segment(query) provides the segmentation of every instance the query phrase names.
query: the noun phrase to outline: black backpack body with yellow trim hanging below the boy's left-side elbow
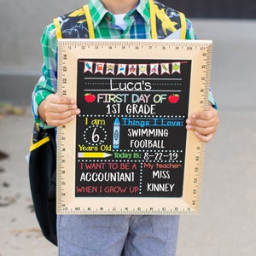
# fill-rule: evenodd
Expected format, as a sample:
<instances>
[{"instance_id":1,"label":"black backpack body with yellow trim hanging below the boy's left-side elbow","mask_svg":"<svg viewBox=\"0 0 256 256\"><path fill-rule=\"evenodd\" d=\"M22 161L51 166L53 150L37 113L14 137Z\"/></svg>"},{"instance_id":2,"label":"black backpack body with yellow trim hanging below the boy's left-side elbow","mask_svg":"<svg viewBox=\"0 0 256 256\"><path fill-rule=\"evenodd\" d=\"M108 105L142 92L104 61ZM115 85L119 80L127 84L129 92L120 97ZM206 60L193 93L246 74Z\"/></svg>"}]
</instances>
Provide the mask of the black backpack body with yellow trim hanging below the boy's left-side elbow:
<instances>
[{"instance_id":1,"label":"black backpack body with yellow trim hanging below the boy's left-side elbow","mask_svg":"<svg viewBox=\"0 0 256 256\"><path fill-rule=\"evenodd\" d=\"M57 246L55 128L34 125L28 169L38 224L44 237Z\"/></svg>"}]
</instances>

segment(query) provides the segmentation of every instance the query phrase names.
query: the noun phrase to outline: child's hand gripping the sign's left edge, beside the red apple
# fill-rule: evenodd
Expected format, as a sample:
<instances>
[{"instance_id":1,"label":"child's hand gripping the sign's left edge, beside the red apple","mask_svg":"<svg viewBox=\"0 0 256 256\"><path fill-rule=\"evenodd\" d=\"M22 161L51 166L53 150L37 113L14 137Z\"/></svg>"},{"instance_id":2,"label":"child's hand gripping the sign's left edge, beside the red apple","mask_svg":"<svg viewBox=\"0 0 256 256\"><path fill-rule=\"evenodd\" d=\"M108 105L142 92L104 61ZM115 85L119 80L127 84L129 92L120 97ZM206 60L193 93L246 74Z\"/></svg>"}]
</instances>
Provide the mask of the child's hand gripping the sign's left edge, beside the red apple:
<instances>
[{"instance_id":1,"label":"child's hand gripping the sign's left edge, beside the red apple","mask_svg":"<svg viewBox=\"0 0 256 256\"><path fill-rule=\"evenodd\" d=\"M80 109L73 98L51 94L41 102L38 113L48 125L60 126L73 120Z\"/></svg>"}]
</instances>

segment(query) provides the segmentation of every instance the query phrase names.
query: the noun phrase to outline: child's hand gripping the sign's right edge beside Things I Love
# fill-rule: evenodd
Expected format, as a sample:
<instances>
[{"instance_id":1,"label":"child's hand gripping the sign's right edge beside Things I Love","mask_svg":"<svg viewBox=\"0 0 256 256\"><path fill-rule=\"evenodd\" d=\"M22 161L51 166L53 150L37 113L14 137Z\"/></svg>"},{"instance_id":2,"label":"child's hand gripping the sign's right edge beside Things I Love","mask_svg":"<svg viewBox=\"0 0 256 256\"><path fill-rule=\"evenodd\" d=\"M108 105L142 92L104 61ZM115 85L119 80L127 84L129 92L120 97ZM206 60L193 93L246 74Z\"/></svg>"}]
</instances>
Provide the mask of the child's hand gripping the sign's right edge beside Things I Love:
<instances>
[{"instance_id":1,"label":"child's hand gripping the sign's right edge beside Things I Love","mask_svg":"<svg viewBox=\"0 0 256 256\"><path fill-rule=\"evenodd\" d=\"M218 111L211 106L207 111L192 113L186 120L186 128L195 131L196 137L208 143L217 131L218 121Z\"/></svg>"}]
</instances>

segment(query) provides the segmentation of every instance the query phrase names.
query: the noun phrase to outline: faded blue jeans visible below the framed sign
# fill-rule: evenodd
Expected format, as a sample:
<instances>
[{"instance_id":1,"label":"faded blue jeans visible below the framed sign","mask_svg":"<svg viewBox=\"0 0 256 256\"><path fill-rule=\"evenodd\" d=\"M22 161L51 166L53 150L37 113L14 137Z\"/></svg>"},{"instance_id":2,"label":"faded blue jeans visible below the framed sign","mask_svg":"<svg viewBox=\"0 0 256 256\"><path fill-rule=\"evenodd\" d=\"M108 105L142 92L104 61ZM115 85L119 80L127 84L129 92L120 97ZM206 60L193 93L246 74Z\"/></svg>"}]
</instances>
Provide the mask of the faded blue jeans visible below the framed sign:
<instances>
[{"instance_id":1,"label":"faded blue jeans visible below the framed sign","mask_svg":"<svg viewBox=\"0 0 256 256\"><path fill-rule=\"evenodd\" d=\"M59 256L174 256L179 216L60 215Z\"/></svg>"}]
</instances>

